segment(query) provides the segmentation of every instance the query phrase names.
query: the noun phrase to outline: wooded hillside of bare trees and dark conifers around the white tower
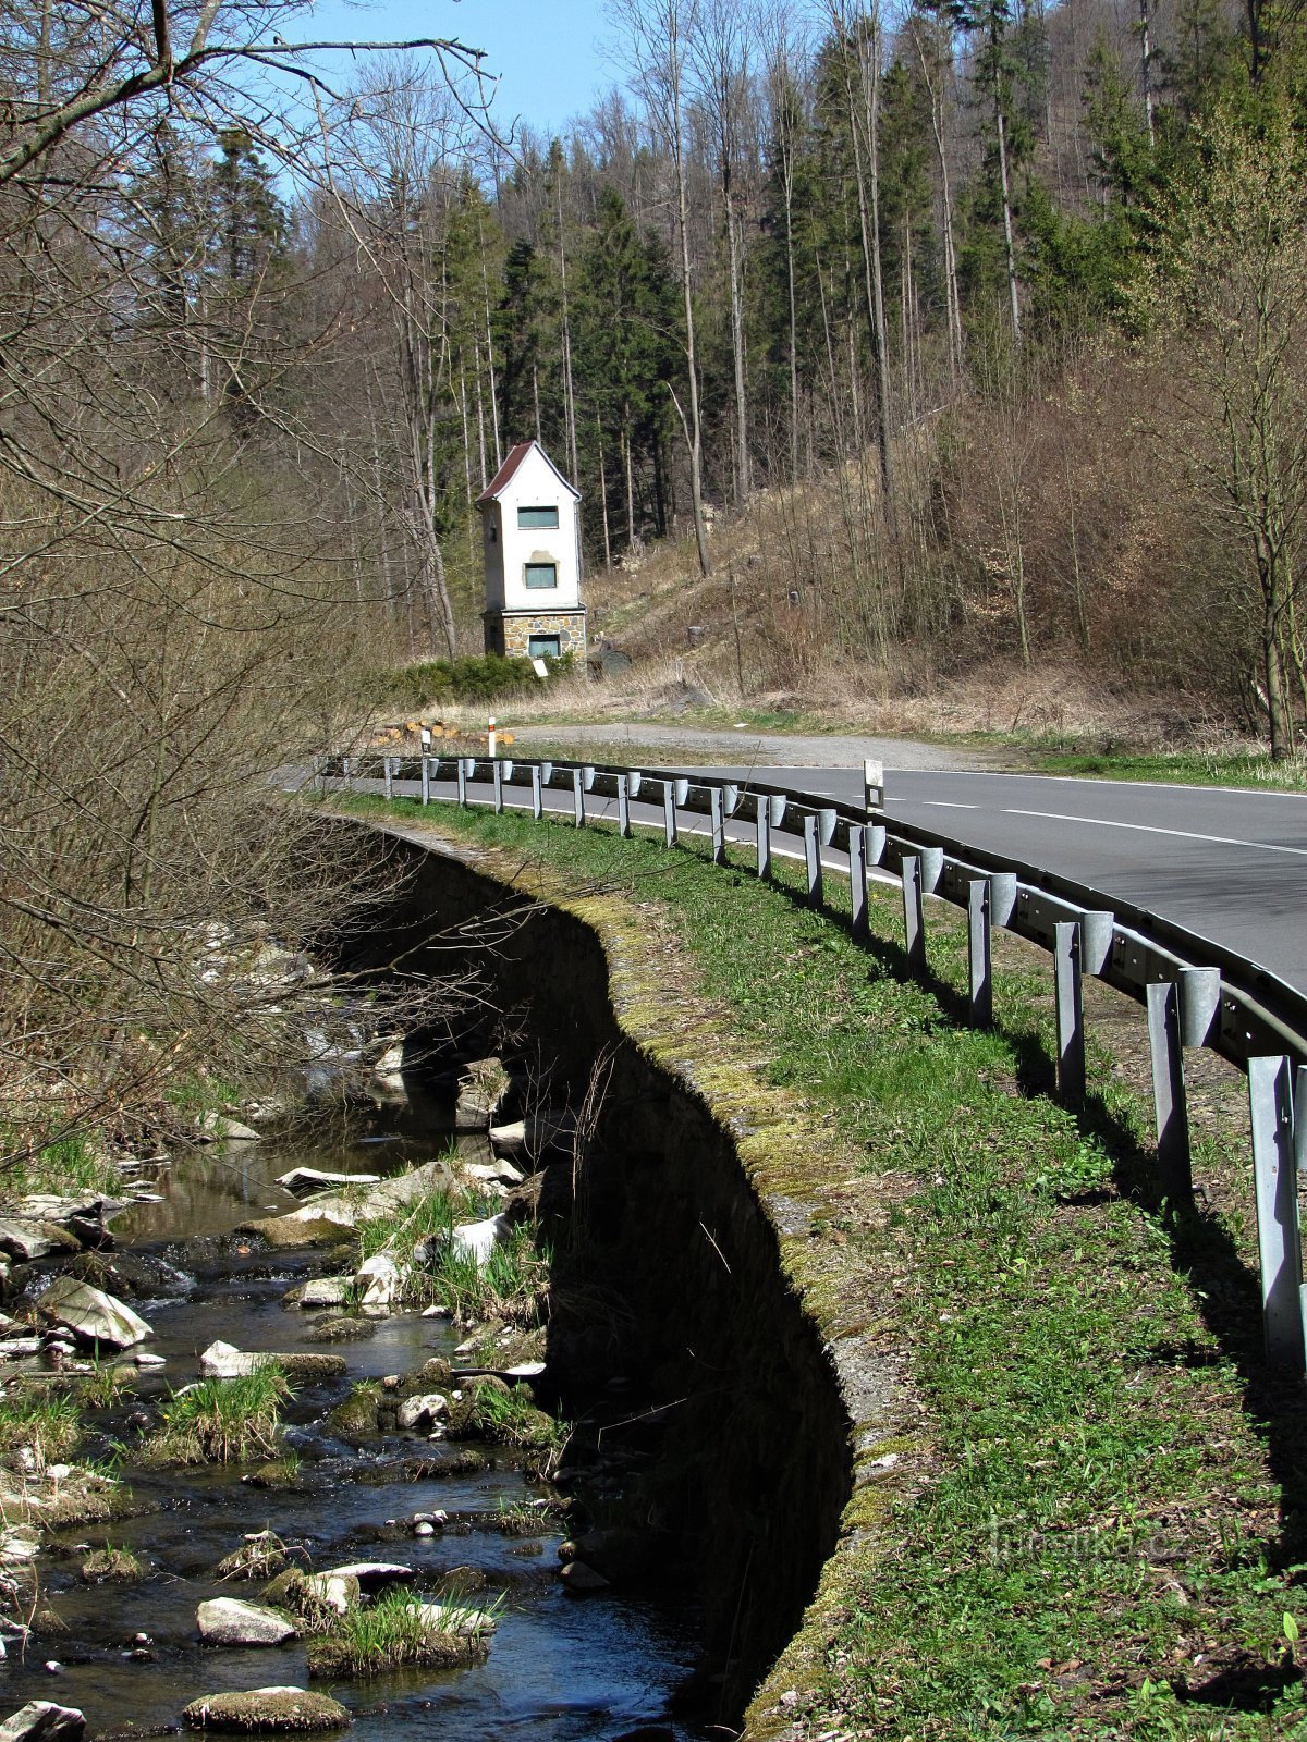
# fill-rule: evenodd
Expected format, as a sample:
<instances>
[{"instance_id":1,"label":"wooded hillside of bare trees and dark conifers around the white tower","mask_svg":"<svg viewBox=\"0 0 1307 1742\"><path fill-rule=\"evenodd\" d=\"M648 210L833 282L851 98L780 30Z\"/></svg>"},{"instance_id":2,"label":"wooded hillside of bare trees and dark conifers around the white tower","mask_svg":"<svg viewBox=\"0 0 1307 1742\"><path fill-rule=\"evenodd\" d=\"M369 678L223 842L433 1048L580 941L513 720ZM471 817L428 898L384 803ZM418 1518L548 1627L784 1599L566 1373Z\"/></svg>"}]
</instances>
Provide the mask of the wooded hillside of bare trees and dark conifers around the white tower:
<instances>
[{"instance_id":1,"label":"wooded hillside of bare trees and dark conifers around the white tower","mask_svg":"<svg viewBox=\"0 0 1307 1742\"><path fill-rule=\"evenodd\" d=\"M453 40L0 0L9 1064L91 1042L103 1110L157 1031L240 1052L195 927L312 923L267 770L356 678L479 646L472 503L528 436L591 601L671 540L694 615L633 632L706 624L741 688L1061 662L1293 751L1302 5L608 30L610 96L542 139Z\"/></svg>"}]
</instances>

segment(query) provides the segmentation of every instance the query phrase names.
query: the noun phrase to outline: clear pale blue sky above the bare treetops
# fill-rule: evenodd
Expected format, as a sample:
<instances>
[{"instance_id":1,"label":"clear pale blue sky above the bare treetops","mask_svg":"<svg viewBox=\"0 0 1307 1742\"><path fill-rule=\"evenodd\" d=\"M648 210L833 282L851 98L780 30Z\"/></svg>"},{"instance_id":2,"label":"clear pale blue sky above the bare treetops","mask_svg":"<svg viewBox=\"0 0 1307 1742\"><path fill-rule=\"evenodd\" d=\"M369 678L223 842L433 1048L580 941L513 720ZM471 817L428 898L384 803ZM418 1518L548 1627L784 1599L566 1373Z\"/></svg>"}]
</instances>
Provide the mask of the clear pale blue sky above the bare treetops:
<instances>
[{"instance_id":1,"label":"clear pale blue sky above the bare treetops","mask_svg":"<svg viewBox=\"0 0 1307 1742\"><path fill-rule=\"evenodd\" d=\"M601 49L613 31L594 0L317 0L312 31L359 40L457 37L484 49L484 66L500 75L502 127L521 117L538 132L558 132L619 82Z\"/></svg>"}]
</instances>

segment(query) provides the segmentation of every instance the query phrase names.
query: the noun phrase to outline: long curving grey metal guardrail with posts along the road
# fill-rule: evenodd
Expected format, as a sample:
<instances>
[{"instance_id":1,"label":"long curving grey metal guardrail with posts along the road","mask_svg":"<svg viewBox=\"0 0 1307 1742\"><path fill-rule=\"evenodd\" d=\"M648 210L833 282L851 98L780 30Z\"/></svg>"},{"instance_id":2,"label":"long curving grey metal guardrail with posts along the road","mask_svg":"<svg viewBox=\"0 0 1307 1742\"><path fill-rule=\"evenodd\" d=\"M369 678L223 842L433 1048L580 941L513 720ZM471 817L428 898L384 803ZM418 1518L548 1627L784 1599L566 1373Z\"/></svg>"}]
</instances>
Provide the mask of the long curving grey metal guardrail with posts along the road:
<instances>
[{"instance_id":1,"label":"long curving grey metal guardrail with posts along the road","mask_svg":"<svg viewBox=\"0 0 1307 1742\"><path fill-rule=\"evenodd\" d=\"M864 765L861 807L760 780L521 758L345 756L321 758L315 772L343 786L380 780L387 798L399 782L411 782L423 805L436 800L437 786L451 784L460 805L502 812L530 803L537 820L561 810L577 827L596 819L596 801L605 801L605 817L615 801L622 834L636 824L655 827L667 847L678 843L681 817L706 817L713 861L725 864L728 845L753 845L762 878L770 876L775 836L784 833L802 843L807 895L816 908L823 906L823 854L845 855L856 939L868 935L870 878L878 871L901 883L904 949L917 974L927 970L924 897L938 895L967 915L967 991L978 1026L993 1019L993 928L1016 932L1051 953L1058 1094L1070 1106L1079 1106L1086 1092L1084 976L1134 998L1148 1019L1157 1160L1162 1193L1173 1204L1190 1202L1194 1193L1185 1047L1208 1047L1248 1077L1267 1361L1307 1371L1298 1225L1298 1174L1307 1169L1307 998L1274 974L1070 878L892 822L875 763ZM477 782L483 791L474 791ZM554 793L568 794L570 805L547 803ZM647 810L633 817L633 807L650 805L652 815Z\"/></svg>"}]
</instances>

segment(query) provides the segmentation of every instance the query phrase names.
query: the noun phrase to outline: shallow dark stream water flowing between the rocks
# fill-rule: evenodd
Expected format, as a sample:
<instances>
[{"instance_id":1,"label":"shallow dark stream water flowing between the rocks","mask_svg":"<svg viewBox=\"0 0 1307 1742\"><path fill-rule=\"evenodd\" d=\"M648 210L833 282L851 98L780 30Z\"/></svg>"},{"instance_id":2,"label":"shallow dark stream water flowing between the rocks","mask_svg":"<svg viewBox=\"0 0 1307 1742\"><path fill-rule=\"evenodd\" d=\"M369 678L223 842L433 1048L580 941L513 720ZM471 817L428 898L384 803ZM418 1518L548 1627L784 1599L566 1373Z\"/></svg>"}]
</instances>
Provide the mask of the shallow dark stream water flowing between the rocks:
<instances>
[{"instance_id":1,"label":"shallow dark stream water flowing between the rocks","mask_svg":"<svg viewBox=\"0 0 1307 1742\"><path fill-rule=\"evenodd\" d=\"M232 1233L251 1216L295 1207L275 1185L289 1167L394 1172L446 1150L450 1124L446 1104L410 1104L362 1115L308 1144L213 1146L160 1176L152 1186L159 1202L119 1218L119 1246L164 1261L157 1293L131 1305L153 1326L146 1347L166 1366L143 1369L103 1421L129 1448L120 1475L134 1510L106 1526L56 1533L40 1557L42 1594L66 1631L38 1625L24 1660L10 1651L0 1665L0 1711L52 1698L78 1705L91 1735L167 1733L181 1707L202 1693L308 1686L298 1641L251 1650L199 1643L199 1603L218 1596L260 1601L261 1582L218 1582L214 1568L246 1533L272 1529L295 1547L293 1563L308 1561L314 1571L397 1561L413 1570L418 1587L432 1587L455 1568L474 1568L486 1580L476 1601L502 1594L490 1658L479 1667L314 1681L354 1712L352 1735L369 1742L399 1735L565 1742L617 1739L643 1725L660 1726L652 1735L690 1733L666 1716L695 1657L688 1603L673 1608L612 1589L566 1594L558 1580L561 1529L545 1519L538 1535L502 1528L507 1509L521 1521L523 1509L538 1509L547 1491L528 1486L495 1448L477 1448L490 1460L481 1474L413 1481L416 1458L448 1458L467 1442L450 1448L415 1432L356 1449L331 1437L324 1416L354 1381L451 1357L460 1333L448 1320L404 1313L380 1320L364 1340L322 1343L314 1336L319 1315L281 1305L288 1289L321 1270L321 1254L265 1252ZM216 1338L244 1350L321 1348L347 1359L347 1378L300 1381L288 1409L288 1444L300 1458L296 1488L249 1486L240 1467L150 1470L132 1463L143 1416L153 1418L152 1399L197 1378L199 1354ZM444 1524L415 1535L415 1514L430 1512L446 1514ZM82 1583L85 1552L105 1545L131 1549L145 1578ZM138 1636L148 1644L138 1644ZM51 1671L47 1662L59 1667Z\"/></svg>"}]
</instances>

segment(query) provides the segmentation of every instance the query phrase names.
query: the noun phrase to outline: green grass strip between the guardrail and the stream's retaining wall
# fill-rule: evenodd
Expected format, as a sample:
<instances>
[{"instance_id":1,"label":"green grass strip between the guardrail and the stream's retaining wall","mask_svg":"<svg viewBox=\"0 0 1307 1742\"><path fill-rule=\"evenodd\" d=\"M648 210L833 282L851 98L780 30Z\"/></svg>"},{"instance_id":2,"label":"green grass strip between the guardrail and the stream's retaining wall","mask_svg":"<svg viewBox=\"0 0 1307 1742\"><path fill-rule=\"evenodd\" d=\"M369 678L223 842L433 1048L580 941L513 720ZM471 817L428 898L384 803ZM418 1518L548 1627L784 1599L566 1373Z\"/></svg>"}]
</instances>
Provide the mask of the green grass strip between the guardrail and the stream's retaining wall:
<instances>
[{"instance_id":1,"label":"green grass strip between the guardrail and the stream's retaining wall","mask_svg":"<svg viewBox=\"0 0 1307 1742\"><path fill-rule=\"evenodd\" d=\"M660 901L739 1050L889 1207L831 1212L809 1242L852 1247L924 1406L903 1448L875 1448L922 1460L911 1491L854 1500L877 1547L830 1573L824 1665L791 1683L810 1733L1307 1737L1288 1637L1307 1624L1307 1420L1302 1387L1260 1367L1251 1204L1225 1221L1150 1198L1147 1122L1101 1052L1080 1120L1039 1092L1047 970L1000 972L997 1030L974 1033L946 1014L964 927L932 906L938 989L903 979L896 890L863 951L697 845L436 815L573 887Z\"/></svg>"}]
</instances>

